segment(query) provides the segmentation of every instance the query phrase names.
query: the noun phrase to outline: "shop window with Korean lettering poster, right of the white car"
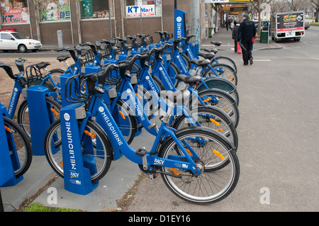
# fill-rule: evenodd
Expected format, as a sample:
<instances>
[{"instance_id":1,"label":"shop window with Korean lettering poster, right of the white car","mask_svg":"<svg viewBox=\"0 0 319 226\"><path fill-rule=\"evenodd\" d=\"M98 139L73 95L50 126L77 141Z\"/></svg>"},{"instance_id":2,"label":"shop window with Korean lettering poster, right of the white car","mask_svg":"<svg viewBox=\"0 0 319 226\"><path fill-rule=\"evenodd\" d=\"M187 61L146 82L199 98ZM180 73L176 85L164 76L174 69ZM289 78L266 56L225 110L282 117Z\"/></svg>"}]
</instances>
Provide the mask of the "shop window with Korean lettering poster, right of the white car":
<instances>
[{"instance_id":1,"label":"shop window with Korean lettering poster, right of the white car","mask_svg":"<svg viewBox=\"0 0 319 226\"><path fill-rule=\"evenodd\" d=\"M38 1L40 21L69 21L69 0L44 0Z\"/></svg>"}]
</instances>

